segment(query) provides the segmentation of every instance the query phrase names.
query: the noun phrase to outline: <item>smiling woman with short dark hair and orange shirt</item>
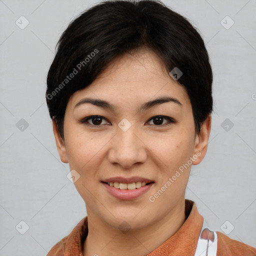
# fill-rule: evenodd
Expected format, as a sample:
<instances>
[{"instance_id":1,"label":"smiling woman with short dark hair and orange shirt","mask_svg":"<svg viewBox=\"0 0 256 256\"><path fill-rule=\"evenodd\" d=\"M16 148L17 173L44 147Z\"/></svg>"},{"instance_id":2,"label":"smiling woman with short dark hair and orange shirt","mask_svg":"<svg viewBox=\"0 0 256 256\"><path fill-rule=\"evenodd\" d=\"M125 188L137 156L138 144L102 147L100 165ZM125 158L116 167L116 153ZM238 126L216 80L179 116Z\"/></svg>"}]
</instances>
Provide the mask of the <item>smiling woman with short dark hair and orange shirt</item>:
<instances>
[{"instance_id":1,"label":"smiling woman with short dark hair and orange shirt","mask_svg":"<svg viewBox=\"0 0 256 256\"><path fill-rule=\"evenodd\" d=\"M201 36L161 2L105 1L69 24L46 101L87 216L47 255L256 255L184 198L207 150L211 84Z\"/></svg>"}]
</instances>

